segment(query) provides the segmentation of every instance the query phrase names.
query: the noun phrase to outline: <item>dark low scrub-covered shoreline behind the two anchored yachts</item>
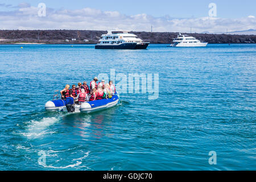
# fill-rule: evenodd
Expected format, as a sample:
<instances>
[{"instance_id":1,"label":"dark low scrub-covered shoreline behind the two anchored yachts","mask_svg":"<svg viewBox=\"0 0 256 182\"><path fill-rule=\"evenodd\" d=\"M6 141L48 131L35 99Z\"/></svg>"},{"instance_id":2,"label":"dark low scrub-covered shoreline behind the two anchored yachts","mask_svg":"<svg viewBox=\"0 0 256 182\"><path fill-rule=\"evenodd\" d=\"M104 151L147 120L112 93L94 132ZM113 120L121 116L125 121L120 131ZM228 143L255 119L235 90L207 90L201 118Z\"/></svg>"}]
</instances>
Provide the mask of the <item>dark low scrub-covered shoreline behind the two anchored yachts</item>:
<instances>
[{"instance_id":1,"label":"dark low scrub-covered shoreline behind the two anchored yachts","mask_svg":"<svg viewBox=\"0 0 256 182\"><path fill-rule=\"evenodd\" d=\"M170 44L178 32L132 32L151 44ZM106 31L96 30L0 30L0 44L96 44ZM208 43L256 43L256 35L189 34ZM73 39L73 40L72 40Z\"/></svg>"}]
</instances>

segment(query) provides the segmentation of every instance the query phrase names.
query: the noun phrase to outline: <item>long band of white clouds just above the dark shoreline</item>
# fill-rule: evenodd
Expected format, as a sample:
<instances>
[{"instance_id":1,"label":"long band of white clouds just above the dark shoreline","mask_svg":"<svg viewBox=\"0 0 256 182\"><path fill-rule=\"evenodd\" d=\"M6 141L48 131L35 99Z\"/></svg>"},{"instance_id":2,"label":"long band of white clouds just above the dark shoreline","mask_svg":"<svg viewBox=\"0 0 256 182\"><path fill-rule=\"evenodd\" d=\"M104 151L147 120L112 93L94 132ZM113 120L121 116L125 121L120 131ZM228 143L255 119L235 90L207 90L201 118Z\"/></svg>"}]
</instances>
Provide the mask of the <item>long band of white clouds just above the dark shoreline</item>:
<instances>
[{"instance_id":1,"label":"long band of white clouds just above the dark shoreline","mask_svg":"<svg viewBox=\"0 0 256 182\"><path fill-rule=\"evenodd\" d=\"M1 5L1 4L0 4ZM2 5L6 6L6 5ZM225 32L256 29L256 19L253 15L246 18L170 18L154 17L148 14L125 15L118 11L102 11L89 7L77 10L53 10L47 8L46 16L38 16L38 7L22 3L13 11L0 11L1 29L76 29L76 30L109 30L115 27L133 31L172 32Z\"/></svg>"}]
</instances>

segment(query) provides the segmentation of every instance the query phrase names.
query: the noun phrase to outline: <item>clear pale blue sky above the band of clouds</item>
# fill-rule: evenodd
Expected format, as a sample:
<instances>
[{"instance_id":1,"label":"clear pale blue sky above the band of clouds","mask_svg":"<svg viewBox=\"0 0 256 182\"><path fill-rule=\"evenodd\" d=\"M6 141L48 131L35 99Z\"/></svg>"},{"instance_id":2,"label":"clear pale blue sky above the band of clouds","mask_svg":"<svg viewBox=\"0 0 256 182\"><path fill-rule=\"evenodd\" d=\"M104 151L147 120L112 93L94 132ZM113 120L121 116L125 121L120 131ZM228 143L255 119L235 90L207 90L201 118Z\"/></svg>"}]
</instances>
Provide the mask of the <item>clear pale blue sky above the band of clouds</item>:
<instances>
[{"instance_id":1,"label":"clear pale blue sky above the band of clouds","mask_svg":"<svg viewBox=\"0 0 256 182\"><path fill-rule=\"evenodd\" d=\"M18 5L19 3L27 2L32 6L37 6L38 3L46 3L48 7L53 9L80 9L82 7L90 7L92 9L100 9L102 11L119 11L126 15L134 14L150 14L152 16L170 15L174 18L198 18L208 15L208 5L213 2L217 5L217 16L221 18L240 18L248 15L255 15L255 0L231 1L231 0L197 0L197 1L166 1L166 0L77 0L77 1L61 1L61 0L1 0L0 3L8 5ZM3 7L0 7L3 10ZM6 9L5 9L6 10Z\"/></svg>"}]
</instances>

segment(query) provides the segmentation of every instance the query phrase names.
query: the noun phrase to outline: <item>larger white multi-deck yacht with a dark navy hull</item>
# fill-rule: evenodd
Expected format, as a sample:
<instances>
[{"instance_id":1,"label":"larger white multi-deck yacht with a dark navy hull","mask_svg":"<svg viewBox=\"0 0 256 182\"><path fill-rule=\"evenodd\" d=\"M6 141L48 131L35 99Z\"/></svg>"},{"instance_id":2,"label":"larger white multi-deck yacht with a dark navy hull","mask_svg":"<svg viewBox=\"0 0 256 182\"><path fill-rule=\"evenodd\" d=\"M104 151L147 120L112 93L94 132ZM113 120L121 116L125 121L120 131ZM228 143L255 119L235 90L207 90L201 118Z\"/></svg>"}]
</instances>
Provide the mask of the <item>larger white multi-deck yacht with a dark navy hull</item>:
<instances>
[{"instance_id":1,"label":"larger white multi-deck yacht with a dark navy hull","mask_svg":"<svg viewBox=\"0 0 256 182\"><path fill-rule=\"evenodd\" d=\"M137 38L137 35L129 34L127 30L110 30L102 34L100 43L96 49L146 49L149 42Z\"/></svg>"}]
</instances>

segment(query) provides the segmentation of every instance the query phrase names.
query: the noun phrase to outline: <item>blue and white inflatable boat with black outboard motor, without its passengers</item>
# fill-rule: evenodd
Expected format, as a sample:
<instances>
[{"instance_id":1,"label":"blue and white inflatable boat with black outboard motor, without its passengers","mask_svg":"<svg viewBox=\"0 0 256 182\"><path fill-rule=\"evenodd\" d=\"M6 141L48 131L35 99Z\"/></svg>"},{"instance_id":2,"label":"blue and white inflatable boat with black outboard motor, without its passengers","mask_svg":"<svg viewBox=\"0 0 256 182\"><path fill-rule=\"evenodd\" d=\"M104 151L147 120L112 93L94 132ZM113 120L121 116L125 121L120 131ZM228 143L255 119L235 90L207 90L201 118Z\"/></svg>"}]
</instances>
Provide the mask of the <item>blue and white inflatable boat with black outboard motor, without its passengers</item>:
<instances>
[{"instance_id":1,"label":"blue and white inflatable boat with black outboard motor, without its passengers","mask_svg":"<svg viewBox=\"0 0 256 182\"><path fill-rule=\"evenodd\" d=\"M118 104L118 94L114 94L112 98L84 102L81 105L74 104L72 97L65 100L52 100L46 102L46 111L64 111L71 113L92 113L99 110L108 109Z\"/></svg>"}]
</instances>

